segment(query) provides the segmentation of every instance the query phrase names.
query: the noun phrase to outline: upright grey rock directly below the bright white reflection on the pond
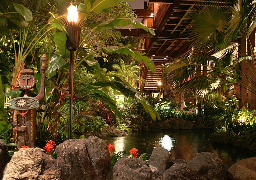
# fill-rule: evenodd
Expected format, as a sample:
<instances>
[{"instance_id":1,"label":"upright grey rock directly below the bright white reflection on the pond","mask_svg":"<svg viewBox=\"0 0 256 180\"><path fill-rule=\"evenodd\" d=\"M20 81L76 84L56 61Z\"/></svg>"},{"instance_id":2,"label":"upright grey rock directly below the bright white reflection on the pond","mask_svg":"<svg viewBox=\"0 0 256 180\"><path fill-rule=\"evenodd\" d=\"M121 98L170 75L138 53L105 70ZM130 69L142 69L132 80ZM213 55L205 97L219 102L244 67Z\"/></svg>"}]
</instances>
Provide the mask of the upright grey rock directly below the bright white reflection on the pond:
<instances>
[{"instance_id":1,"label":"upright grey rock directly below the bright white reflection on the pond","mask_svg":"<svg viewBox=\"0 0 256 180\"><path fill-rule=\"evenodd\" d=\"M169 166L169 151L162 147L156 147L152 151L149 165L156 167L158 171L165 171Z\"/></svg>"}]
</instances>

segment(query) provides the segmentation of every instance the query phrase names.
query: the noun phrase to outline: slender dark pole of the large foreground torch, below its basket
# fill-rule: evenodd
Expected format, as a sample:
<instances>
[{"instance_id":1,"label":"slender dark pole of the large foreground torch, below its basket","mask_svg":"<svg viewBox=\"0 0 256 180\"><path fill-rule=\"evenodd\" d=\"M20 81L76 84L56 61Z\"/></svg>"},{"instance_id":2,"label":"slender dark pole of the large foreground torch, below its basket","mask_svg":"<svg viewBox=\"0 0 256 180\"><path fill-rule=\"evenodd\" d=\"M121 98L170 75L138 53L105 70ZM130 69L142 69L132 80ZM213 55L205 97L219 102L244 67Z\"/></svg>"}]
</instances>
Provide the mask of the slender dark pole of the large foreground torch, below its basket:
<instances>
[{"instance_id":1,"label":"slender dark pole of the large foreground torch, below its basket","mask_svg":"<svg viewBox=\"0 0 256 180\"><path fill-rule=\"evenodd\" d=\"M72 117L73 117L73 71L74 71L74 51L70 51L69 61L69 124L68 139L72 139Z\"/></svg>"}]
</instances>

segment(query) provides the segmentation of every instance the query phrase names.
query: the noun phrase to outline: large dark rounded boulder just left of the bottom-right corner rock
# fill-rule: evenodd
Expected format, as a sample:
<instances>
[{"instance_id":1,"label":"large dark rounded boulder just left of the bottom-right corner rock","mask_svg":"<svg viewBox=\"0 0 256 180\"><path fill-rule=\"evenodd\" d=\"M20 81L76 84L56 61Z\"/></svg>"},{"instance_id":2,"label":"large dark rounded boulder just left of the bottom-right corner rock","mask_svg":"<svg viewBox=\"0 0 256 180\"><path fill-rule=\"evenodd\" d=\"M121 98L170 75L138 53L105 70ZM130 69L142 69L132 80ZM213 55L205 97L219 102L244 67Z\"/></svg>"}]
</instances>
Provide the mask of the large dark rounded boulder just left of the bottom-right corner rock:
<instances>
[{"instance_id":1,"label":"large dark rounded boulder just left of the bottom-right corner rock","mask_svg":"<svg viewBox=\"0 0 256 180\"><path fill-rule=\"evenodd\" d=\"M225 179L225 167L220 158L211 152L197 153L196 157L187 162L187 165L195 171L199 179L223 180Z\"/></svg>"}]
</instances>

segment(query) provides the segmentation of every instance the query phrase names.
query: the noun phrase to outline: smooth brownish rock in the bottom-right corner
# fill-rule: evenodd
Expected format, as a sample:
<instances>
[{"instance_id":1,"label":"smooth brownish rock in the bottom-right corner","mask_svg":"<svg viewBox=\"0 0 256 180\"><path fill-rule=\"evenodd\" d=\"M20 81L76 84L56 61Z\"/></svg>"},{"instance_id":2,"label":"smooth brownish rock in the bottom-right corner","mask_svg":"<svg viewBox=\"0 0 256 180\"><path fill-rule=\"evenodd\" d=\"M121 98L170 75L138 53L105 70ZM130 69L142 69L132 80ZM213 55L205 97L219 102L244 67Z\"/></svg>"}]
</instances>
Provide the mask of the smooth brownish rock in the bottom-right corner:
<instances>
[{"instance_id":1,"label":"smooth brownish rock in the bottom-right corner","mask_svg":"<svg viewBox=\"0 0 256 180\"><path fill-rule=\"evenodd\" d=\"M228 178L232 180L255 180L256 157L242 159L227 170Z\"/></svg>"}]
</instances>

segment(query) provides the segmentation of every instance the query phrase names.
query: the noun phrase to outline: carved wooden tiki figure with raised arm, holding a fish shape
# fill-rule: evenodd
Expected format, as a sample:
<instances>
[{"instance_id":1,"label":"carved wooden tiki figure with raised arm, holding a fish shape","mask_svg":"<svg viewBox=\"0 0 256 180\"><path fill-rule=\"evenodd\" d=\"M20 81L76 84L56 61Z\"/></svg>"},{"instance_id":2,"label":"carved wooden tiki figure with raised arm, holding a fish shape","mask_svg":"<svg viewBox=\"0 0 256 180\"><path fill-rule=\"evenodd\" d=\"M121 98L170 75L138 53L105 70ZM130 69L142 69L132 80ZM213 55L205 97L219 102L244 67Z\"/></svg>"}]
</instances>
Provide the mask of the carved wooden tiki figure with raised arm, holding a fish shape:
<instances>
[{"instance_id":1,"label":"carved wooden tiki figure with raised arm, holding a fish shape","mask_svg":"<svg viewBox=\"0 0 256 180\"><path fill-rule=\"evenodd\" d=\"M30 89L32 89L37 80L34 77L32 69L21 70L21 76L17 83L20 88L25 89L23 97L16 97L6 103L6 106L14 109L13 114L13 134L14 141L18 148L21 146L35 147L36 144L36 108L39 102L44 99L45 91L45 71L47 70L46 62L48 60L46 54L41 56L41 87L36 97L30 97Z\"/></svg>"}]
</instances>

